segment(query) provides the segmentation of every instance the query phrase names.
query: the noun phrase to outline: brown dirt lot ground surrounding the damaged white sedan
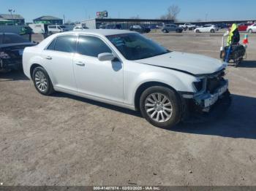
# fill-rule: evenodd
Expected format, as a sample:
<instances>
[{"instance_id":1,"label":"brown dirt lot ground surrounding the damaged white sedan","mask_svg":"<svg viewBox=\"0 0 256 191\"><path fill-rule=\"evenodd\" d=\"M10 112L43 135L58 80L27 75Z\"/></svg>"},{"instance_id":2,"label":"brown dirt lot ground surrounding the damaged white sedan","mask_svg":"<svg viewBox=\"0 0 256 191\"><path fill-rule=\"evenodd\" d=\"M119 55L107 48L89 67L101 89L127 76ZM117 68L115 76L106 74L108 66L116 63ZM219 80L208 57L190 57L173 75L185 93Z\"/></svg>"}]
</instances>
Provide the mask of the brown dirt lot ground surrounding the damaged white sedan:
<instances>
[{"instance_id":1,"label":"brown dirt lot ground surrounding the damaged white sedan","mask_svg":"<svg viewBox=\"0 0 256 191\"><path fill-rule=\"evenodd\" d=\"M219 57L220 34L148 34L170 50ZM37 38L38 40L38 38ZM256 185L256 35L228 66L227 113L173 130L136 112L64 93L45 97L17 72L0 74L4 185Z\"/></svg>"}]
</instances>

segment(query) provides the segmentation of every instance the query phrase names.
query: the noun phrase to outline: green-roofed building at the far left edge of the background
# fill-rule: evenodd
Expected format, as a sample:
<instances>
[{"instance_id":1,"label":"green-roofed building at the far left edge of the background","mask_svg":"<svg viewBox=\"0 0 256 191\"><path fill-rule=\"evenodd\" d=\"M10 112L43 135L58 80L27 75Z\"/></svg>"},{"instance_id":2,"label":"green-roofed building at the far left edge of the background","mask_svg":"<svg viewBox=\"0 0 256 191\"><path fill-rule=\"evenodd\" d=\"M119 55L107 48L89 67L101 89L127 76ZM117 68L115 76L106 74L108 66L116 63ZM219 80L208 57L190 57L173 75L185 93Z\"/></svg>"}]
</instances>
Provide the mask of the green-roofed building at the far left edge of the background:
<instances>
[{"instance_id":1,"label":"green-roofed building at the far left edge of the background","mask_svg":"<svg viewBox=\"0 0 256 191\"><path fill-rule=\"evenodd\" d=\"M25 19L20 15L0 14L0 25L24 25Z\"/></svg>"}]
</instances>

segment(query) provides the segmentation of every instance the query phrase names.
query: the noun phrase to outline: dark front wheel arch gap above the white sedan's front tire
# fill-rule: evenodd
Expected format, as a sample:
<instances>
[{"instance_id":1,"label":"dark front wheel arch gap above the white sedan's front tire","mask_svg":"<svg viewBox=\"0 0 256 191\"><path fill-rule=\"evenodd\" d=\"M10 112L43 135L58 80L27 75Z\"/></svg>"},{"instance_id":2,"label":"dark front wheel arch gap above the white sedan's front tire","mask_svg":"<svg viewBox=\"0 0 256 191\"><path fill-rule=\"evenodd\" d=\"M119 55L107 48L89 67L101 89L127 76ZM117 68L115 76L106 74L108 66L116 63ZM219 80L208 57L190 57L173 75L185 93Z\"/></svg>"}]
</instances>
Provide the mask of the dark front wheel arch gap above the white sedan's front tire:
<instances>
[{"instance_id":1,"label":"dark front wheel arch gap above the white sedan's front tire","mask_svg":"<svg viewBox=\"0 0 256 191\"><path fill-rule=\"evenodd\" d=\"M135 110L137 110L137 111L140 110L140 95L143 93L144 90L146 90L146 89L148 89L148 87L152 87L152 86L167 87L167 88L170 88L171 90L173 90L175 93L177 93L177 95L179 95L177 90L175 90L173 87L171 87L170 85L167 85L163 82L157 82L157 81L144 82L137 88L137 90L135 92L135 98L134 98Z\"/></svg>"}]
</instances>

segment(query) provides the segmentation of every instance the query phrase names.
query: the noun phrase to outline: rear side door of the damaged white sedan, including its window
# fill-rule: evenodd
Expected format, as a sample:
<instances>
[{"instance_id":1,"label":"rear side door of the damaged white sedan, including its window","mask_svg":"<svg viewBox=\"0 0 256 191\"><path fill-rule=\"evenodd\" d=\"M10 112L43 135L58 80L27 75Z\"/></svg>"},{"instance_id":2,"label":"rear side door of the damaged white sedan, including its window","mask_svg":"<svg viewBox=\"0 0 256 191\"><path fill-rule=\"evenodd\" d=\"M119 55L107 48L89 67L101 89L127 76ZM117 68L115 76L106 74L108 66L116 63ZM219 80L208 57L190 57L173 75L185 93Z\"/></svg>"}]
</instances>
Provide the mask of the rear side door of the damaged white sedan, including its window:
<instances>
[{"instance_id":1,"label":"rear side door of the damaged white sedan, including its window","mask_svg":"<svg viewBox=\"0 0 256 191\"><path fill-rule=\"evenodd\" d=\"M73 72L73 57L77 50L76 35L58 36L42 51L44 67L55 87L77 91Z\"/></svg>"}]
</instances>

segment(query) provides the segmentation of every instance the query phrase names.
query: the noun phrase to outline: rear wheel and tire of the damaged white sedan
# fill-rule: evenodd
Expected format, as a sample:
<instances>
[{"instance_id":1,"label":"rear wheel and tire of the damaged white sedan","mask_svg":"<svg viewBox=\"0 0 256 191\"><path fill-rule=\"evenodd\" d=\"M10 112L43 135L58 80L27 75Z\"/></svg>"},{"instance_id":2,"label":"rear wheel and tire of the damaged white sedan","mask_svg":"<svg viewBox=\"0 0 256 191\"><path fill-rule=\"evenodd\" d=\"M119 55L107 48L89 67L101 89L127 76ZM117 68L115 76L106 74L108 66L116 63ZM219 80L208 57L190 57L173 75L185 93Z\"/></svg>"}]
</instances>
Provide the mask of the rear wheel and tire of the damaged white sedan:
<instances>
[{"instance_id":1,"label":"rear wheel and tire of the damaged white sedan","mask_svg":"<svg viewBox=\"0 0 256 191\"><path fill-rule=\"evenodd\" d=\"M54 93L53 84L44 68L38 66L34 69L33 74L34 87L42 95L50 95Z\"/></svg>"}]
</instances>

